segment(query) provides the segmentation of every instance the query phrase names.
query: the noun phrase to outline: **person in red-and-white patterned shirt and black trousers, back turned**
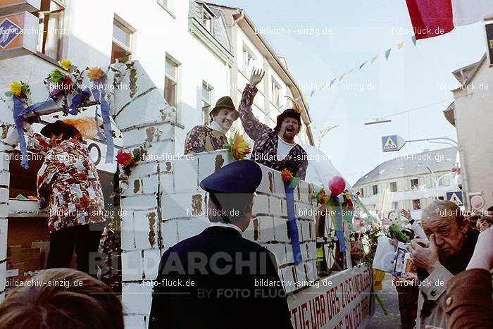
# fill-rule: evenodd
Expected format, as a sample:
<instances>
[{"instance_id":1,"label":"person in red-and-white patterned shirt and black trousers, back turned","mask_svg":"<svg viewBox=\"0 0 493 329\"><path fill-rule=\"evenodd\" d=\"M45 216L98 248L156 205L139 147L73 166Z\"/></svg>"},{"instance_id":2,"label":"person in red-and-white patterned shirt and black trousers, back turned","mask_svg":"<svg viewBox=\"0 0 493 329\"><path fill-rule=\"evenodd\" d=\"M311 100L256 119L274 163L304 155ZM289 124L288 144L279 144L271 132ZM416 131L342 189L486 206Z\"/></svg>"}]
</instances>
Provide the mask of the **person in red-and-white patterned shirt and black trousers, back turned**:
<instances>
[{"instance_id":1,"label":"person in red-and-white patterned shirt and black trousers, back turned","mask_svg":"<svg viewBox=\"0 0 493 329\"><path fill-rule=\"evenodd\" d=\"M89 254L98 250L105 220L94 161L77 128L63 121L43 128L42 134L51 140L35 133L28 124L25 130L30 137L28 149L44 154L37 173L37 194L39 208L49 206L48 268L70 267L75 247L77 269L89 273Z\"/></svg>"}]
</instances>

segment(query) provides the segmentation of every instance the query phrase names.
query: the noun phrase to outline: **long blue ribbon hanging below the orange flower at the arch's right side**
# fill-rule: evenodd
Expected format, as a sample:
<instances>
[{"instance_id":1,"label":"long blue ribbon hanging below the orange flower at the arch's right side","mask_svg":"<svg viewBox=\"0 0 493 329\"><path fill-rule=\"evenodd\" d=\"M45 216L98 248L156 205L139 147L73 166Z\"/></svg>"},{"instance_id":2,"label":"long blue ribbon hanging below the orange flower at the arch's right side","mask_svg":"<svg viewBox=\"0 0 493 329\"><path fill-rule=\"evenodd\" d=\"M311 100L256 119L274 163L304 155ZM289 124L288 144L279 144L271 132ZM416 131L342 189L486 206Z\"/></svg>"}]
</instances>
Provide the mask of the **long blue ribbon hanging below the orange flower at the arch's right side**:
<instances>
[{"instance_id":1,"label":"long blue ribbon hanging below the orange flower at the arch's right side","mask_svg":"<svg viewBox=\"0 0 493 329\"><path fill-rule=\"evenodd\" d=\"M113 133L111 132L110 106L105 98L106 92L104 91L104 82L106 82L106 80L101 79L98 81L94 81L94 85L92 85L92 96L96 101L99 101L99 104L101 104L101 116L103 117L104 136L103 134L101 134L101 131L99 130L97 108L96 108L96 113L94 114L94 119L96 120L96 128L99 138L102 141L106 142L105 163L112 163L113 162ZM99 92L99 88L101 88L101 92Z\"/></svg>"}]
</instances>

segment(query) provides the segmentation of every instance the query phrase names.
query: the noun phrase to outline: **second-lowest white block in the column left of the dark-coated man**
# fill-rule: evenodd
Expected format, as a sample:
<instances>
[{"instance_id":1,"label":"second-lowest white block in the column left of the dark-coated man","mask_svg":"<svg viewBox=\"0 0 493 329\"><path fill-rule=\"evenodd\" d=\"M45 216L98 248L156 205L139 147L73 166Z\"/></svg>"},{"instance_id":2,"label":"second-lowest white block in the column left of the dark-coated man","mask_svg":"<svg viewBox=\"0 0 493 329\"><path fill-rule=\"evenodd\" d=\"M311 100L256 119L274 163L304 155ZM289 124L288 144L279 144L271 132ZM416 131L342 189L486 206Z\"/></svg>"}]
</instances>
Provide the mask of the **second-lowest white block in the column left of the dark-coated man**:
<instances>
[{"instance_id":1,"label":"second-lowest white block in the column left of the dark-coated man","mask_svg":"<svg viewBox=\"0 0 493 329\"><path fill-rule=\"evenodd\" d=\"M152 302L151 281L123 283L122 304L127 314L149 314Z\"/></svg>"}]
</instances>

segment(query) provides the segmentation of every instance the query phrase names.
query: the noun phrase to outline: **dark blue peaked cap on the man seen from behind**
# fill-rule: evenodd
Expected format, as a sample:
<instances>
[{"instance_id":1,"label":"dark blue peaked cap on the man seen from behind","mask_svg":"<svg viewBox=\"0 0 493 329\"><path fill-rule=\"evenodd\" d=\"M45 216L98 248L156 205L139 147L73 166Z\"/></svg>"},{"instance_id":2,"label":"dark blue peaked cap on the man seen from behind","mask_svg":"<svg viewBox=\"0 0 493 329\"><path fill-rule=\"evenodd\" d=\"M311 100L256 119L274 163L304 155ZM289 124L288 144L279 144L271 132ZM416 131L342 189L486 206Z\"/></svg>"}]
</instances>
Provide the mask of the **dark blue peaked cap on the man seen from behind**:
<instances>
[{"instance_id":1,"label":"dark blue peaked cap on the man seen from behind","mask_svg":"<svg viewBox=\"0 0 493 329\"><path fill-rule=\"evenodd\" d=\"M251 160L235 161L200 182L202 190L216 193L254 193L262 180L260 166Z\"/></svg>"}]
</instances>

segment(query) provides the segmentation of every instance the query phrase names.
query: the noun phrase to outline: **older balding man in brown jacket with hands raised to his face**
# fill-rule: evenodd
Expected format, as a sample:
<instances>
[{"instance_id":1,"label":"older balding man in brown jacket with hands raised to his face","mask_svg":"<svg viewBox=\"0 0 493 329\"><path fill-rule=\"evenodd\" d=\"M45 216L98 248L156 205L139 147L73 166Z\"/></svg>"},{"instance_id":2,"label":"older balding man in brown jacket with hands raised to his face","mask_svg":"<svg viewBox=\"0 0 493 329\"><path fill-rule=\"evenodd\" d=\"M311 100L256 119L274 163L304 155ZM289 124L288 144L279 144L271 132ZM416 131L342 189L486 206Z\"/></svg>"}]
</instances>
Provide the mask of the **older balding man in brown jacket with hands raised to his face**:
<instances>
[{"instance_id":1,"label":"older balding man in brown jacket with hands raised to his face","mask_svg":"<svg viewBox=\"0 0 493 329\"><path fill-rule=\"evenodd\" d=\"M466 270L473 256L478 231L468 230L469 221L454 202L433 202L421 219L429 247L413 240L408 247L418 266L418 316L416 328L426 325L447 328L445 322L447 282Z\"/></svg>"}]
</instances>

